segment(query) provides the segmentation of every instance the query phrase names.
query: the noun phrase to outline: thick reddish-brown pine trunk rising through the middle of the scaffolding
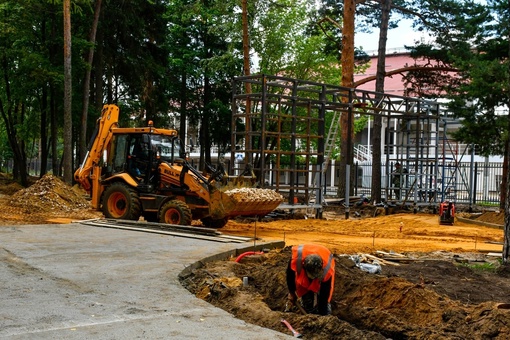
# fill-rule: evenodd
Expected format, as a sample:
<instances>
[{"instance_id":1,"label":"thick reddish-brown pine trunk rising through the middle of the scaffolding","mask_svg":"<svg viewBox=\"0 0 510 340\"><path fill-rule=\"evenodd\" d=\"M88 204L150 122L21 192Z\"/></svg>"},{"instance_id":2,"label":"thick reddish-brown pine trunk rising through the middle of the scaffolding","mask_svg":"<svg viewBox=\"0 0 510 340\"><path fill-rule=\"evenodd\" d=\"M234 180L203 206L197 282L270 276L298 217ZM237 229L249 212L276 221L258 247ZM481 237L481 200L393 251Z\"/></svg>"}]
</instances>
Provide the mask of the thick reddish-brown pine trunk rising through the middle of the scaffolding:
<instances>
[{"instance_id":1,"label":"thick reddish-brown pine trunk rising through the middle of the scaffolding","mask_svg":"<svg viewBox=\"0 0 510 340\"><path fill-rule=\"evenodd\" d=\"M342 30L342 86L353 87L354 83L354 15L356 12L355 0L344 0L344 27ZM342 102L348 104L348 97L342 97ZM348 196L351 193L352 185L347 187L347 168L352 165L352 140L353 124L352 111L342 112L340 119L341 144L340 144L340 179L338 184L338 196ZM349 126L351 125L351 126ZM350 170L350 169L349 169ZM352 171L349 172L349 178L352 178ZM352 181L350 181L352 183ZM347 216L348 217L348 216Z\"/></svg>"}]
</instances>

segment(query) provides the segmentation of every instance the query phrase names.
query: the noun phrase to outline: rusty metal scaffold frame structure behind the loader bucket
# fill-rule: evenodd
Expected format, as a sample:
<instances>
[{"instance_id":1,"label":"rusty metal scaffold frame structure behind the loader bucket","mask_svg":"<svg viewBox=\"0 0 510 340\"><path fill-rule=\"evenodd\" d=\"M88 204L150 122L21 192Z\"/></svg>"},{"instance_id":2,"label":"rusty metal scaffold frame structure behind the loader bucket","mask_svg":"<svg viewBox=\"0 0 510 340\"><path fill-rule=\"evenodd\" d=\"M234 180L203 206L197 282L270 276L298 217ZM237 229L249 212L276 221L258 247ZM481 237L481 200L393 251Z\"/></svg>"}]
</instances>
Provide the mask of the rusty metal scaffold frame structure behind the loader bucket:
<instances>
[{"instance_id":1,"label":"rusty metal scaffold frame structure behind the loader bucket","mask_svg":"<svg viewBox=\"0 0 510 340\"><path fill-rule=\"evenodd\" d=\"M384 129L384 199L435 204L439 198L438 145L445 129L437 102L269 75L236 77L232 88L231 159L235 161L230 163L230 175L252 168L259 185L280 192L289 206L321 209L328 164L338 152L340 117L379 115ZM348 143L353 155L354 141ZM407 170L400 175L398 188L392 181L391 167L396 162ZM335 184L342 180L348 184L348 177L337 178ZM400 197L392 198L395 190L400 190Z\"/></svg>"}]
</instances>

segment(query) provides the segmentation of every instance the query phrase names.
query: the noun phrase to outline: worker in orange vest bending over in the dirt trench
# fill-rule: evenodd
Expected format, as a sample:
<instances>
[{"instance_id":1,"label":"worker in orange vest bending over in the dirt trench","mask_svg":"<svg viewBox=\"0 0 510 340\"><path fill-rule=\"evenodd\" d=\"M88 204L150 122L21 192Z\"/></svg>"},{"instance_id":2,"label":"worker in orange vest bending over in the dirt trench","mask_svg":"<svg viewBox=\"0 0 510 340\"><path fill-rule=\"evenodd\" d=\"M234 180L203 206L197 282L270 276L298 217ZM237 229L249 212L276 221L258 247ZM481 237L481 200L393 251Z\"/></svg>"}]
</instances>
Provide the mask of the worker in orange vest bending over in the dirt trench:
<instances>
[{"instance_id":1,"label":"worker in orange vest bending over in the dirt trench","mask_svg":"<svg viewBox=\"0 0 510 340\"><path fill-rule=\"evenodd\" d=\"M300 303L307 313L329 315L334 286L335 259L328 248L317 244L292 247L287 267L290 303Z\"/></svg>"}]
</instances>

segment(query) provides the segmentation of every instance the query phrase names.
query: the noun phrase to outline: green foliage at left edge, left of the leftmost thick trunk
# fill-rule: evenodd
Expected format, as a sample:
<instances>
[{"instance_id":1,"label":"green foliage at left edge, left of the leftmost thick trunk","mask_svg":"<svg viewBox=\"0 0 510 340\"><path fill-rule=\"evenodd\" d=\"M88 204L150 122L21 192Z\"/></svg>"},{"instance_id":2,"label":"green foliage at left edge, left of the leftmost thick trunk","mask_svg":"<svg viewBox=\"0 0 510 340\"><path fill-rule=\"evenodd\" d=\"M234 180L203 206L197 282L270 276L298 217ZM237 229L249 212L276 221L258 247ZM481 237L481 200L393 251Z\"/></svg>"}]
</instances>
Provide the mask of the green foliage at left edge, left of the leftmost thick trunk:
<instances>
[{"instance_id":1,"label":"green foliage at left edge, left of the leftmost thick trunk","mask_svg":"<svg viewBox=\"0 0 510 340\"><path fill-rule=\"evenodd\" d=\"M47 143L39 140L41 128L46 128L41 112L49 88L61 89L62 63L56 65L50 53L58 43L48 29L51 5L25 0L3 1L0 6L0 124L2 139L11 149L2 150L2 157L14 158L24 182L27 158L38 157L40 146Z\"/></svg>"}]
</instances>

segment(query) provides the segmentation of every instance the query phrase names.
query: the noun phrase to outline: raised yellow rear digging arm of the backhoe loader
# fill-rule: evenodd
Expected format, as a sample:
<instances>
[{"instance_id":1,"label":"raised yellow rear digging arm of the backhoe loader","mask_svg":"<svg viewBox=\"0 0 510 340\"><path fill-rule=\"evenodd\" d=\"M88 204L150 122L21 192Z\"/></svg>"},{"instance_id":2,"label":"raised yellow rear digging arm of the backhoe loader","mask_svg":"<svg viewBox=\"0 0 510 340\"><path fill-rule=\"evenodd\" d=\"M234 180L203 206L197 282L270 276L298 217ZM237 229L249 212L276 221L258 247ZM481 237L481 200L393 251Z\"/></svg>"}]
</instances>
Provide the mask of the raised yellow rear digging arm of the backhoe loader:
<instances>
[{"instance_id":1,"label":"raised yellow rear digging arm of the backhoe loader","mask_svg":"<svg viewBox=\"0 0 510 340\"><path fill-rule=\"evenodd\" d=\"M93 183L99 180L100 171L95 170L103 152L112 139L112 128L118 126L119 108L117 105L104 105L101 117L97 120L96 129L89 143L83 163L74 173L74 179L83 189L90 193ZM97 190L97 189L96 189Z\"/></svg>"}]
</instances>

